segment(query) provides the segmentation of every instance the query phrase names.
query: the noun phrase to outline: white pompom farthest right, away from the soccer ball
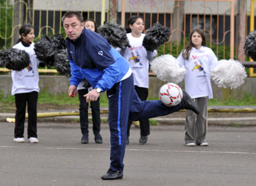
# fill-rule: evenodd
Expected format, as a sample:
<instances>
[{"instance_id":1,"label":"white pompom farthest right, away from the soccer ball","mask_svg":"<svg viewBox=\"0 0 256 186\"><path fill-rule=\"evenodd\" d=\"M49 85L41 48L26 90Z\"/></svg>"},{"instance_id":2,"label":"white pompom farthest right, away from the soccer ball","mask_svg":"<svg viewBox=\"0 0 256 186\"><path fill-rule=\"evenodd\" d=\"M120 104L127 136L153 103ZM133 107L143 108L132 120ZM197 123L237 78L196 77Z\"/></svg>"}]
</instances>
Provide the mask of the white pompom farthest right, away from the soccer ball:
<instances>
[{"instance_id":1,"label":"white pompom farthest right, away from the soccer ball","mask_svg":"<svg viewBox=\"0 0 256 186\"><path fill-rule=\"evenodd\" d=\"M222 59L210 70L211 79L218 87L238 88L247 77L244 66L234 59Z\"/></svg>"}]
</instances>

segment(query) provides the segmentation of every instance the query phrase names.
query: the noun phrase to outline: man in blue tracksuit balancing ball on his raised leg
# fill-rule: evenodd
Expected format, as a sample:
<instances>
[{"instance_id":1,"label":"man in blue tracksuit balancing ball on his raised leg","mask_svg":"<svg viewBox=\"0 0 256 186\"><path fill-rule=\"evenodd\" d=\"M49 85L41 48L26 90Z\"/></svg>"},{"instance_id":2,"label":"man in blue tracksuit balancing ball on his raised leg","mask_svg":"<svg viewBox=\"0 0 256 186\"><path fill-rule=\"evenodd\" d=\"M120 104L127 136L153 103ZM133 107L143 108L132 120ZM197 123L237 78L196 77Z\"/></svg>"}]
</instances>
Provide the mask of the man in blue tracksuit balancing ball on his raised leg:
<instances>
[{"instance_id":1,"label":"man in blue tracksuit balancing ball on his raised leg","mask_svg":"<svg viewBox=\"0 0 256 186\"><path fill-rule=\"evenodd\" d=\"M185 91L181 103L175 107L167 107L160 100L142 102L134 89L134 78L126 59L104 37L85 29L80 13L67 12L62 22L67 34L66 45L71 66L68 94L70 97L77 94L76 87L83 78L94 88L84 95L86 102L97 100L101 92L107 91L111 163L101 178L122 179L128 118L142 120L180 109L199 113L199 108Z\"/></svg>"}]
</instances>

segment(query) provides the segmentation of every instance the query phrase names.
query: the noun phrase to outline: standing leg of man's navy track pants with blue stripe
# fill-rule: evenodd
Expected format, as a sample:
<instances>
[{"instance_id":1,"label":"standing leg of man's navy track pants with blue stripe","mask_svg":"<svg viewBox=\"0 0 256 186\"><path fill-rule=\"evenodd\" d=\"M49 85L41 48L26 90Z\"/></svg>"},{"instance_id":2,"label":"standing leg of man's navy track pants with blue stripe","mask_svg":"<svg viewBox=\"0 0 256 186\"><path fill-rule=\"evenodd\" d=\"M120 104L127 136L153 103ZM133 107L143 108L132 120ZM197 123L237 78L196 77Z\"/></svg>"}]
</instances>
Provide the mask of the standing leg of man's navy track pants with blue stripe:
<instances>
[{"instance_id":1,"label":"standing leg of man's navy track pants with blue stripe","mask_svg":"<svg viewBox=\"0 0 256 186\"><path fill-rule=\"evenodd\" d=\"M116 83L109 91L109 128L110 128L110 168L124 168L127 122L129 118L132 93L134 90L133 76Z\"/></svg>"}]
</instances>

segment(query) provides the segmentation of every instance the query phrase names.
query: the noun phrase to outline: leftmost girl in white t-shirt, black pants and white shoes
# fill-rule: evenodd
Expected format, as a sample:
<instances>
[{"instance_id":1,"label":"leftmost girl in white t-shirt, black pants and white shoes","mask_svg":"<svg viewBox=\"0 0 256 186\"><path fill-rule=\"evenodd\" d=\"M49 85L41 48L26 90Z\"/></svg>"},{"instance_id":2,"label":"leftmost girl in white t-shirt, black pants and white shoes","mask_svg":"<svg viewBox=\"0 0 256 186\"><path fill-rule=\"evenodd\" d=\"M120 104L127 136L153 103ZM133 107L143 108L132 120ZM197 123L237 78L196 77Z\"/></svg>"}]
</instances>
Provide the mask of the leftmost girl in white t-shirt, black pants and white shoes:
<instances>
[{"instance_id":1,"label":"leftmost girl in white t-shirt, black pants and white shoes","mask_svg":"<svg viewBox=\"0 0 256 186\"><path fill-rule=\"evenodd\" d=\"M30 64L22 71L12 71L12 95L15 96L16 115L14 128L14 142L24 142L24 122L26 104L28 105L28 141L38 143L37 139L37 98L39 92L38 65L33 40L34 28L30 24L24 24L19 29L20 39L13 48L26 51L30 57Z\"/></svg>"}]
</instances>

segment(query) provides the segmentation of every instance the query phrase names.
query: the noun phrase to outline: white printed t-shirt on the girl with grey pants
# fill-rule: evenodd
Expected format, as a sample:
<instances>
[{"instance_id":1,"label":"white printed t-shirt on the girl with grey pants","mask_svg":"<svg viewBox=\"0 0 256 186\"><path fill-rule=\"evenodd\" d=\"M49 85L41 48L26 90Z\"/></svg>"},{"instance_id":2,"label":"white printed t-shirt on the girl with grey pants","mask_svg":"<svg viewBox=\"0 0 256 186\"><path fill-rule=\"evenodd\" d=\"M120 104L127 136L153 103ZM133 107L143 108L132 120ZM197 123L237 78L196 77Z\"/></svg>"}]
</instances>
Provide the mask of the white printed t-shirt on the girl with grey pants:
<instances>
[{"instance_id":1,"label":"white printed t-shirt on the girl with grey pants","mask_svg":"<svg viewBox=\"0 0 256 186\"><path fill-rule=\"evenodd\" d=\"M201 46L199 49L192 48L189 60L182 57L182 52L177 58L180 66L185 66L185 89L191 98L208 96L213 98L213 90L210 81L210 68L215 67L218 58L213 51Z\"/></svg>"}]
</instances>

